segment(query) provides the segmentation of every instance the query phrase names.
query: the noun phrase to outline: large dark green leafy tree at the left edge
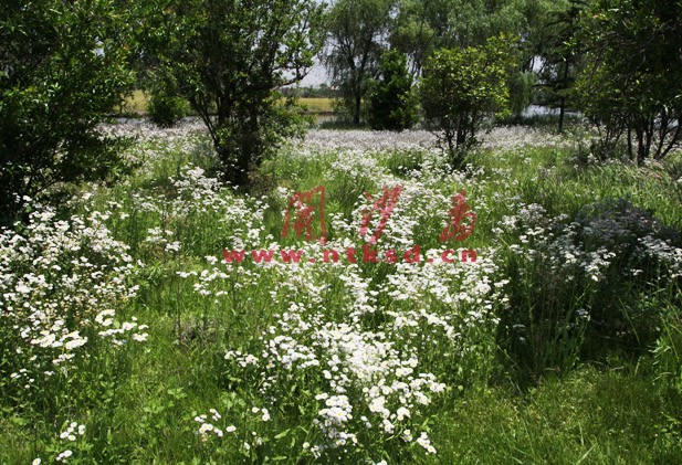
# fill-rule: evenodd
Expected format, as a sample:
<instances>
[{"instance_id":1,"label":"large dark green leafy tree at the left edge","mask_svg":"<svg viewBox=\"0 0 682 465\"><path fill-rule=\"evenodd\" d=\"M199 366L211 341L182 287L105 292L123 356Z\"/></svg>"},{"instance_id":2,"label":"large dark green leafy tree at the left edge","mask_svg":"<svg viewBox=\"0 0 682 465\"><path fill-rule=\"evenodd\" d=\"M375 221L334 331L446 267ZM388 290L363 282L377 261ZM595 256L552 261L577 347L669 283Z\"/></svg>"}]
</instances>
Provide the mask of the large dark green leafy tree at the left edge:
<instances>
[{"instance_id":1,"label":"large dark green leafy tree at the left edge","mask_svg":"<svg viewBox=\"0 0 682 465\"><path fill-rule=\"evenodd\" d=\"M97 125L133 82L124 10L108 0L10 0L0 10L0 218L119 163ZM19 202L17 202L19 199Z\"/></svg>"}]
</instances>

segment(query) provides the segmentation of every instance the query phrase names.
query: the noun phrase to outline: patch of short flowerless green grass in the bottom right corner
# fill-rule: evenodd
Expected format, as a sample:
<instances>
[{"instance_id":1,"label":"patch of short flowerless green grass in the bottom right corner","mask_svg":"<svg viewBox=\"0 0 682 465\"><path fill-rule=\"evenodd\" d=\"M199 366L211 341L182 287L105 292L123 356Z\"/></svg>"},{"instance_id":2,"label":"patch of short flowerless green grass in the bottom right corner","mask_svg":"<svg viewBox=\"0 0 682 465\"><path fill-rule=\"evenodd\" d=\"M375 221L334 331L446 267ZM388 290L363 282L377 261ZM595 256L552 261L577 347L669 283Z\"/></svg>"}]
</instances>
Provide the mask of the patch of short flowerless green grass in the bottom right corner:
<instances>
[{"instance_id":1,"label":"patch of short flowerless green grass in the bottom right corner","mask_svg":"<svg viewBox=\"0 0 682 465\"><path fill-rule=\"evenodd\" d=\"M454 402L434 420L440 463L678 463L675 395L628 366L584 366L520 398L489 388ZM673 421L673 423L671 423ZM672 426L672 430L671 430Z\"/></svg>"}]
</instances>

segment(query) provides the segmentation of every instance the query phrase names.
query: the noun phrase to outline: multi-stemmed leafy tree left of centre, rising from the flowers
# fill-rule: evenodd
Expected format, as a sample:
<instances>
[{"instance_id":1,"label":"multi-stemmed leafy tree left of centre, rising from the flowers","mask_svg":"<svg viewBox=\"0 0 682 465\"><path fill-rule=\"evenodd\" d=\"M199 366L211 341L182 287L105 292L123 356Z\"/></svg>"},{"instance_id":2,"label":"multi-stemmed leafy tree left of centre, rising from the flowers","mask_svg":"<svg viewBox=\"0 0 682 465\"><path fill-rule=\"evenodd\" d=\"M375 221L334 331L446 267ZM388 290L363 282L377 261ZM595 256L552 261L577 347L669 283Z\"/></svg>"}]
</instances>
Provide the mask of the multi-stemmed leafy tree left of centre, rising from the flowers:
<instances>
[{"instance_id":1,"label":"multi-stemmed leafy tree left of centre, rising from the flowers","mask_svg":"<svg viewBox=\"0 0 682 465\"><path fill-rule=\"evenodd\" d=\"M157 78L200 115L234 184L295 133L276 91L312 67L322 11L314 0L168 0L150 13Z\"/></svg>"}]
</instances>

